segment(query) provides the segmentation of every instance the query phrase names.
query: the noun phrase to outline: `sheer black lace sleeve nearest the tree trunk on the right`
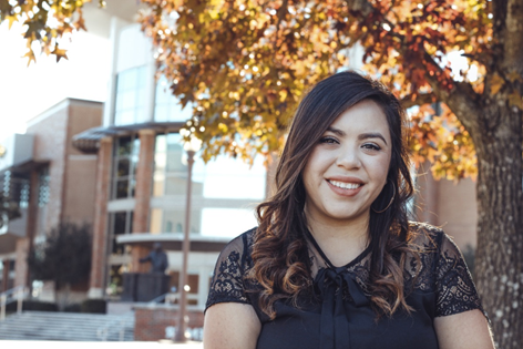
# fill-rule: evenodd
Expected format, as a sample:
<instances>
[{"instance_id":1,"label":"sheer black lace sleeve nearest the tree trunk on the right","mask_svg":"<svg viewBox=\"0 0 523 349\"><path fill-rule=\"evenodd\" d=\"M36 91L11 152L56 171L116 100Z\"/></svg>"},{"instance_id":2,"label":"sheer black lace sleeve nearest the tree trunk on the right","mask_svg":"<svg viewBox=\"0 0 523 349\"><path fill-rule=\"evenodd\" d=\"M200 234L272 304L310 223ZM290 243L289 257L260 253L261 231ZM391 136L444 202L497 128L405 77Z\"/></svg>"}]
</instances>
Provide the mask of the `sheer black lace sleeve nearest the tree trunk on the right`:
<instances>
[{"instance_id":1,"label":"sheer black lace sleeve nearest the tree trunk on the right","mask_svg":"<svg viewBox=\"0 0 523 349\"><path fill-rule=\"evenodd\" d=\"M441 244L437 256L435 316L448 316L472 309L483 311L461 252L445 234L441 234Z\"/></svg>"}]
</instances>

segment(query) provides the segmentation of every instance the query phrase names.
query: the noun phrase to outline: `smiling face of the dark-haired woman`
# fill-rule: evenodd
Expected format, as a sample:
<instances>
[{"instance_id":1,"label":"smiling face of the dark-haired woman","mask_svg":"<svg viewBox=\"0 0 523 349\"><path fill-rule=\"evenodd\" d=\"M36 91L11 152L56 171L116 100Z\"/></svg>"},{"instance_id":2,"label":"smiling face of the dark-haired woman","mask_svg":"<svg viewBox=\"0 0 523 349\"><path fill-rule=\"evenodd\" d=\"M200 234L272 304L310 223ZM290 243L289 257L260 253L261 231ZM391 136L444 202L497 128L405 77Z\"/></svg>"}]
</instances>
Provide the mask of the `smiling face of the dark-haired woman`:
<instances>
[{"instance_id":1,"label":"smiling face of the dark-haired woman","mask_svg":"<svg viewBox=\"0 0 523 349\"><path fill-rule=\"evenodd\" d=\"M376 102L361 101L338 116L302 172L308 219L368 222L370 205L387 183L391 146L387 117Z\"/></svg>"}]
</instances>

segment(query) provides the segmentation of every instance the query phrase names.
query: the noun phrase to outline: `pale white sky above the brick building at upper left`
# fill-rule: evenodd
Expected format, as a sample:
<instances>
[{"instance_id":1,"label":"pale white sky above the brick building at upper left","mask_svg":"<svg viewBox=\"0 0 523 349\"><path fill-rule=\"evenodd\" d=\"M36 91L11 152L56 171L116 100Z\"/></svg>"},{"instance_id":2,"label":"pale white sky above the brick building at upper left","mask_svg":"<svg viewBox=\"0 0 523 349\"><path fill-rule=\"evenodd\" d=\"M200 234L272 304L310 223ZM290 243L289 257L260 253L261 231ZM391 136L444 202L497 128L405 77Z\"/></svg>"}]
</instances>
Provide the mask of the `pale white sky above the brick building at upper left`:
<instances>
[{"instance_id":1,"label":"pale white sky above the brick building at upper left","mask_svg":"<svg viewBox=\"0 0 523 349\"><path fill-rule=\"evenodd\" d=\"M0 143L24 133L25 122L65 97L104 102L111 59L109 39L76 32L65 40L69 60L37 54L28 66L21 25L0 24Z\"/></svg>"}]
</instances>

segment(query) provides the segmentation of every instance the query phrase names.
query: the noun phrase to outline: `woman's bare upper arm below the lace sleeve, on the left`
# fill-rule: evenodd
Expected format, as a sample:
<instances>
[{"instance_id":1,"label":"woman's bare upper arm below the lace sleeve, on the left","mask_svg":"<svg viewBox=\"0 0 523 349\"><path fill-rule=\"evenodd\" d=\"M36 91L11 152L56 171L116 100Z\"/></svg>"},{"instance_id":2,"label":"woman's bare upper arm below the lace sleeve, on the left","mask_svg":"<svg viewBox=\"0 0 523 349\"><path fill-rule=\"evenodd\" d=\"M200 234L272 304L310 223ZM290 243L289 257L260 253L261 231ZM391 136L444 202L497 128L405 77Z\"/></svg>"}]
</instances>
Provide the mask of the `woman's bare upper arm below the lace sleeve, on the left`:
<instances>
[{"instance_id":1,"label":"woman's bare upper arm below the lace sleeve, on the left","mask_svg":"<svg viewBox=\"0 0 523 349\"><path fill-rule=\"evenodd\" d=\"M204 349L256 349L262 324L253 306L221 302L205 311Z\"/></svg>"}]
</instances>

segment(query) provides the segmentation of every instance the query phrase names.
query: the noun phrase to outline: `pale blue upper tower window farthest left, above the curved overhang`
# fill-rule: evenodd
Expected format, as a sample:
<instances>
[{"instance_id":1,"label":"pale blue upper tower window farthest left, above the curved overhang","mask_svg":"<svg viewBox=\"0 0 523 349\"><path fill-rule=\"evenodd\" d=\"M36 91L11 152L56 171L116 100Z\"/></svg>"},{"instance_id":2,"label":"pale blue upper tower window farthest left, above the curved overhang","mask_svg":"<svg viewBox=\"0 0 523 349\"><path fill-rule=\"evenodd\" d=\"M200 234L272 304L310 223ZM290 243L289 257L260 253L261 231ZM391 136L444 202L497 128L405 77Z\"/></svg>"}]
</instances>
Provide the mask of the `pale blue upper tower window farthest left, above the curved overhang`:
<instances>
[{"instance_id":1,"label":"pale blue upper tower window farthest left, above the curved overhang","mask_svg":"<svg viewBox=\"0 0 523 349\"><path fill-rule=\"evenodd\" d=\"M145 111L146 66L120 72L116 78L114 124L129 125L147 121Z\"/></svg>"}]
</instances>

